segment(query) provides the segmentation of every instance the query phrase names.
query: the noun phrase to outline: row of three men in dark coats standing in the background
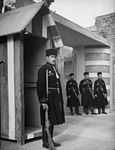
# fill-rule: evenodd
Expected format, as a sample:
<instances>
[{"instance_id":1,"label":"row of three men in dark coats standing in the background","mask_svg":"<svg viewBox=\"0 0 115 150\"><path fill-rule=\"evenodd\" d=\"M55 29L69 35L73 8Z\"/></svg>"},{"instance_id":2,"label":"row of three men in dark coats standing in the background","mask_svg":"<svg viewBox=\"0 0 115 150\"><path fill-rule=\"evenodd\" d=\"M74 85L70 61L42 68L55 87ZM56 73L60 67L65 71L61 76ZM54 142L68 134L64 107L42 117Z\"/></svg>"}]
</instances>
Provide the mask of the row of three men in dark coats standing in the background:
<instances>
[{"instance_id":1,"label":"row of three men in dark coats standing in the background","mask_svg":"<svg viewBox=\"0 0 115 150\"><path fill-rule=\"evenodd\" d=\"M70 107L71 115L74 114L73 107L75 108L75 114L79 113L79 106L83 106L84 113L86 115L91 112L95 113L95 108L98 109L98 114L107 114L105 112L105 106L108 104L107 89L104 80L102 79L102 72L97 73L98 79L94 82L94 90L92 89L92 81L89 79L89 72L84 72L84 79L78 83L74 80L74 74L69 74L69 80L66 84L67 93L67 107ZM81 103L79 95L81 94Z\"/></svg>"}]
</instances>

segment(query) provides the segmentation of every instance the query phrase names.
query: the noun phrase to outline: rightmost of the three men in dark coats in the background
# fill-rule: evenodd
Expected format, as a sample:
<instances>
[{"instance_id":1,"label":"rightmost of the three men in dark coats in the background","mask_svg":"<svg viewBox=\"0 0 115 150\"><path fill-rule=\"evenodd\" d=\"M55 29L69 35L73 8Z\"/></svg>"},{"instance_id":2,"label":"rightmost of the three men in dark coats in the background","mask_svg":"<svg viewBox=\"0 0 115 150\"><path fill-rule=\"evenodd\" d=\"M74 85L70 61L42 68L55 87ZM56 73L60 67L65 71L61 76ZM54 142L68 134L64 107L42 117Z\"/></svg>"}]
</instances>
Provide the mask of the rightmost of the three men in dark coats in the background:
<instances>
[{"instance_id":1,"label":"rightmost of the three men in dark coats in the background","mask_svg":"<svg viewBox=\"0 0 115 150\"><path fill-rule=\"evenodd\" d=\"M104 80L102 79L102 72L98 72L98 79L94 83L94 95L95 105L98 108L98 114L107 114L105 112L105 106L108 104L107 101L107 89Z\"/></svg>"}]
</instances>

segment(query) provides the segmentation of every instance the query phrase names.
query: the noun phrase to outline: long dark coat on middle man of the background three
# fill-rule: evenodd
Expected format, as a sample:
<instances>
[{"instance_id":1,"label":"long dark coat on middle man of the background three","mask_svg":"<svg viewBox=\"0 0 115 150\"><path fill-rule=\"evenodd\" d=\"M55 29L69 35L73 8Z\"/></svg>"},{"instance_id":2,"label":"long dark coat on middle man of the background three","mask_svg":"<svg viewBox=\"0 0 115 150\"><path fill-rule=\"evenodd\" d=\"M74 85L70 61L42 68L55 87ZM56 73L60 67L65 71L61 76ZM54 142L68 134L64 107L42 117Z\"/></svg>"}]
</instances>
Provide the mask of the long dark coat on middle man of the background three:
<instances>
[{"instance_id":1,"label":"long dark coat on middle man of the background three","mask_svg":"<svg viewBox=\"0 0 115 150\"><path fill-rule=\"evenodd\" d=\"M85 107L93 106L92 81L90 79L81 80L79 90L81 93L81 105Z\"/></svg>"}]
</instances>

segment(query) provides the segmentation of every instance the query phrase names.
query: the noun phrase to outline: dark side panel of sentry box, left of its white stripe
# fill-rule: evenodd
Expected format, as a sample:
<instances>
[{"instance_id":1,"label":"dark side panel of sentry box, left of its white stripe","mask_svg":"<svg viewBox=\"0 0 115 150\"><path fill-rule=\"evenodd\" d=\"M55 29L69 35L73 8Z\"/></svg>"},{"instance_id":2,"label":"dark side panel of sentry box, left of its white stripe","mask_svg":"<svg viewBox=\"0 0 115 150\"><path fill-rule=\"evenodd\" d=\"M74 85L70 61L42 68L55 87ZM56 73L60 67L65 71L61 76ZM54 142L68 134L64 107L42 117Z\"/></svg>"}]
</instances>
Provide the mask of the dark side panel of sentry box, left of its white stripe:
<instances>
[{"instance_id":1,"label":"dark side panel of sentry box, left of its white stripe","mask_svg":"<svg viewBox=\"0 0 115 150\"><path fill-rule=\"evenodd\" d=\"M0 100L1 100L1 136L9 136L8 86L7 86L7 46L6 37L0 38Z\"/></svg>"}]
</instances>

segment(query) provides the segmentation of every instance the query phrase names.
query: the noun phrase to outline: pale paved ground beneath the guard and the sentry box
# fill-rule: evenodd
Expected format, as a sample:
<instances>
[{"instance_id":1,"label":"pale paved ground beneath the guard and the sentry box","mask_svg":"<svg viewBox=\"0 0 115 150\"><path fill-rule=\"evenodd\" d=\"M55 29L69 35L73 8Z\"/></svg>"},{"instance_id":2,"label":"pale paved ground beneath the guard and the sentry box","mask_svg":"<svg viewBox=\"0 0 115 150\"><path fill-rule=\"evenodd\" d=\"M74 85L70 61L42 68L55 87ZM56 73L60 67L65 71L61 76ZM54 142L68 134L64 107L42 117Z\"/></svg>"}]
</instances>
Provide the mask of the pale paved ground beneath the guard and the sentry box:
<instances>
[{"instance_id":1,"label":"pale paved ground beneath the guard and the sentry box","mask_svg":"<svg viewBox=\"0 0 115 150\"><path fill-rule=\"evenodd\" d=\"M56 150L115 150L115 112L107 115L66 116L66 123L55 127ZM2 150L45 150L36 140L20 146L2 143Z\"/></svg>"}]
</instances>

